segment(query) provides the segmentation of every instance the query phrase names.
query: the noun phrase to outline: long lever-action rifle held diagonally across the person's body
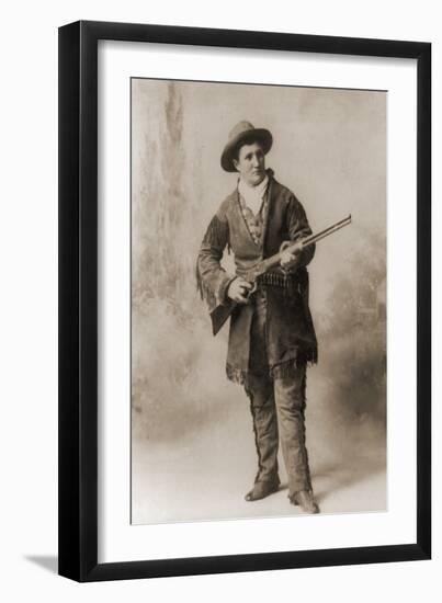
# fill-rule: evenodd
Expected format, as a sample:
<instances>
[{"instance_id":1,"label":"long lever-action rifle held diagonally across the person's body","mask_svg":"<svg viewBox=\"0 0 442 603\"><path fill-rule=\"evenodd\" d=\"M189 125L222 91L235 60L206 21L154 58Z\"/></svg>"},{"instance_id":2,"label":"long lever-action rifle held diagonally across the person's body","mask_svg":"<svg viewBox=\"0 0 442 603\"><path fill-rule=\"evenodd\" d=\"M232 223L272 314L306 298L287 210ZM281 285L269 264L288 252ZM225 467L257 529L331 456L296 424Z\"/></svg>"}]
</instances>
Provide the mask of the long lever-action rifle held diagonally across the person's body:
<instances>
[{"instance_id":1,"label":"long lever-action rifle held diagonally across the person's body","mask_svg":"<svg viewBox=\"0 0 442 603\"><path fill-rule=\"evenodd\" d=\"M325 228L320 232L317 232L316 235L309 235L308 237L305 237L304 239L301 239L299 241L294 242L293 244L290 244L284 249L284 251L290 251L291 253L299 253L310 244L314 244L321 239L325 239L329 235L332 235L337 230L340 230L344 226L348 226L351 224L351 214L340 220L336 224L329 226L328 228ZM270 258L267 258L265 260L262 260L254 266L252 266L250 270L246 272L246 274L242 276L246 281L251 283L253 285L253 288L249 292L249 295L256 291L257 287L257 280L261 274L264 274L272 268L280 264L281 261L281 252L275 253L274 255L271 255ZM226 322L228 317L231 315L231 312L235 310L235 308L239 304L237 302L234 302L230 299L227 304L223 304L217 306L214 310L211 312L211 320L212 320L212 330L213 334L216 335L218 331L222 329L223 325Z\"/></svg>"}]
</instances>

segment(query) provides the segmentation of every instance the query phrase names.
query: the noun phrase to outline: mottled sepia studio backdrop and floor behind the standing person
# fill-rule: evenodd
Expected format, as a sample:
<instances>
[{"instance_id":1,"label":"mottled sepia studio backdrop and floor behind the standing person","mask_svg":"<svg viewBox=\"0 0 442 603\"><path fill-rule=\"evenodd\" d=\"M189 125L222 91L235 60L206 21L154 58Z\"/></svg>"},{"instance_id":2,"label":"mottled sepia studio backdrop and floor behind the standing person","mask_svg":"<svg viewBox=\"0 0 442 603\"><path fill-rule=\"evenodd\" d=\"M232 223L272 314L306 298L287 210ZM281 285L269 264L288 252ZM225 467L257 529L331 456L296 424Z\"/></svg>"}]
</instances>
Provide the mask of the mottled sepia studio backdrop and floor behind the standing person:
<instances>
[{"instance_id":1,"label":"mottled sepia studio backdrop and floor behind the standing person","mask_svg":"<svg viewBox=\"0 0 442 603\"><path fill-rule=\"evenodd\" d=\"M314 231L352 214L309 266L307 446L322 512L386 508L386 93L133 79L133 523L296 513L284 489L243 501L248 399L195 287L206 226L236 185L219 158L241 120L272 132L267 167Z\"/></svg>"}]
</instances>

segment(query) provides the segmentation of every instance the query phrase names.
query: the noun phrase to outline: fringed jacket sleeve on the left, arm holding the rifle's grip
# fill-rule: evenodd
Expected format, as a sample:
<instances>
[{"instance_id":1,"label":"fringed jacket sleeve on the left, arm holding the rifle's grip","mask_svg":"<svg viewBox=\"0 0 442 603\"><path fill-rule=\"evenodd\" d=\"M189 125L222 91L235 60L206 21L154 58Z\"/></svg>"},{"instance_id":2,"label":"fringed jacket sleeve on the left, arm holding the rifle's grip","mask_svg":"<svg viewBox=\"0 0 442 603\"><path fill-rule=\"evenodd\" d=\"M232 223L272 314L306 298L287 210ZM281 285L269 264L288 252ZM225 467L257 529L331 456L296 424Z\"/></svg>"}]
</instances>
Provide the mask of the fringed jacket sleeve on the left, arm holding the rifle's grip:
<instances>
[{"instance_id":1,"label":"fringed jacket sleeve on the left, arm holding the rifle's grip","mask_svg":"<svg viewBox=\"0 0 442 603\"><path fill-rule=\"evenodd\" d=\"M224 249L228 244L227 218L217 214L208 225L196 260L196 287L209 311L219 304L226 303L227 288L236 277L228 274L220 265Z\"/></svg>"}]
</instances>

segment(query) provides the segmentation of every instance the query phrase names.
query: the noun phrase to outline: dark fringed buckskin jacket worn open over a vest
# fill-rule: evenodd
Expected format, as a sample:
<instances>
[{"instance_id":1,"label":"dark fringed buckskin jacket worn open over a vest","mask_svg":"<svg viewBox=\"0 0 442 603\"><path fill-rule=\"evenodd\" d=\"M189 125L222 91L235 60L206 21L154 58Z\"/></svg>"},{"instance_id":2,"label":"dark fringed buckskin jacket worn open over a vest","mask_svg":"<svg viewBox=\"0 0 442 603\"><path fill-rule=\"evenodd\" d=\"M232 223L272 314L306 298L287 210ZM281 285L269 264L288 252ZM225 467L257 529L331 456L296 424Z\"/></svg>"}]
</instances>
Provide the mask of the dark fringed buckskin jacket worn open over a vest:
<instances>
[{"instance_id":1,"label":"dark fringed buckskin jacket worn open over a vest","mask_svg":"<svg viewBox=\"0 0 442 603\"><path fill-rule=\"evenodd\" d=\"M225 198L208 225L196 262L196 280L209 311L227 303L228 286L237 275L243 276L257 262L277 253L284 241L311 235L302 204L274 179L272 170L267 173L269 186L261 243L250 234L238 189ZM235 254L236 274L228 274L220 265L226 247ZM286 272L277 266L258 282L258 286L267 289L267 353L269 374L273 378L288 376L299 363L317 362L306 269L314 254L315 246L310 246L301 253L295 270ZM239 384L247 384L250 371L253 308L252 300L238 305L230 317L226 372L230 380Z\"/></svg>"}]
</instances>

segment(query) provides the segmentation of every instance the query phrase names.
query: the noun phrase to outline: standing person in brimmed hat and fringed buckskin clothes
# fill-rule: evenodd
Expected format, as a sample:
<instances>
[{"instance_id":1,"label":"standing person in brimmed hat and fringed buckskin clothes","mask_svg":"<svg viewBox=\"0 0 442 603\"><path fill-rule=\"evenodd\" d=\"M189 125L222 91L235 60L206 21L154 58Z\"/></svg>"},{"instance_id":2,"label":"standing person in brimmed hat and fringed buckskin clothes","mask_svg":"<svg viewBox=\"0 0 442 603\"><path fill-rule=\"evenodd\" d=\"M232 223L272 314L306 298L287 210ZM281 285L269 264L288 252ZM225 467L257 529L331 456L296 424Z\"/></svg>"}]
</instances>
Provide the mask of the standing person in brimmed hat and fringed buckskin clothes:
<instances>
[{"instance_id":1,"label":"standing person in brimmed hat and fringed buckskin clothes","mask_svg":"<svg viewBox=\"0 0 442 603\"><path fill-rule=\"evenodd\" d=\"M220 164L237 172L234 192L220 204L201 244L196 276L212 311L230 300L227 377L250 399L258 473L246 500L280 487L277 448L288 476L288 498L306 513L318 513L305 443L307 364L317 362L317 341L308 307L306 265L315 246L285 250L311 234L295 195L265 170L273 138L268 129L240 122L230 132ZM236 274L220 265L225 248L235 255ZM257 262L282 251L281 265L261 275L257 291L242 276Z\"/></svg>"}]
</instances>

